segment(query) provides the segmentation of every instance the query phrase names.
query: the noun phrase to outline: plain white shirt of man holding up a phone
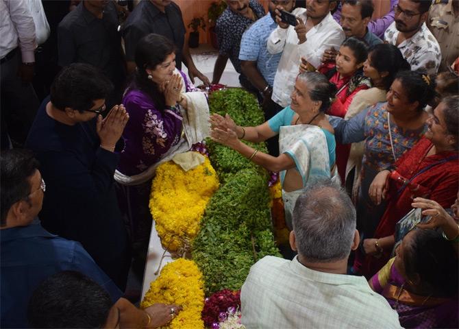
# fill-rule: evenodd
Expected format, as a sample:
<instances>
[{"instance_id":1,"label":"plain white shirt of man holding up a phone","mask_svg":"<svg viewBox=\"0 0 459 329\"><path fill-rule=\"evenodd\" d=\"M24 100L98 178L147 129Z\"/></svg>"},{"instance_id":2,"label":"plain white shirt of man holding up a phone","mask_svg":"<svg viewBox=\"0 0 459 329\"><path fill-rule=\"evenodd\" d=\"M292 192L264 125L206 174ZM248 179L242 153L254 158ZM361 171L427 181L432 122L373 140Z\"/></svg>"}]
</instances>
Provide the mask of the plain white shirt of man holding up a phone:
<instances>
[{"instance_id":1,"label":"plain white shirt of man holding up a phone","mask_svg":"<svg viewBox=\"0 0 459 329\"><path fill-rule=\"evenodd\" d=\"M292 14L306 23L306 9L297 8L293 10ZM339 49L344 40L343 29L334 21L330 13L325 16L321 23L306 33L306 42L301 45L298 45L299 39L295 27L289 25L288 28L282 29L277 26L271 32L267 43L269 53L282 52L274 78L273 101L284 107L290 104L290 94L299 73L301 57L317 68L321 64L325 49L332 47Z\"/></svg>"}]
</instances>

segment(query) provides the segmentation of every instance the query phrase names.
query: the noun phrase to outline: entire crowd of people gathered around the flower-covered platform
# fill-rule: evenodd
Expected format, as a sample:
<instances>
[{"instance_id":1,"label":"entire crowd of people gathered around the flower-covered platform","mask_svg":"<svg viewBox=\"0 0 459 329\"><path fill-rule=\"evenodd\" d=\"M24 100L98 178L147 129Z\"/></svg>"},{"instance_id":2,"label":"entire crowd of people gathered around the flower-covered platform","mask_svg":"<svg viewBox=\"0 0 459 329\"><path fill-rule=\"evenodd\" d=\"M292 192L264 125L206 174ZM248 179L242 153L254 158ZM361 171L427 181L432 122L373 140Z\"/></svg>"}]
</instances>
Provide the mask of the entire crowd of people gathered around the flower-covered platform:
<instances>
[{"instance_id":1,"label":"entire crowd of people gathered around the flower-covered platform","mask_svg":"<svg viewBox=\"0 0 459 329\"><path fill-rule=\"evenodd\" d=\"M458 328L459 0L373 1L225 0L209 80L173 1L0 0L0 326L169 324L127 276L156 168L210 137L280 173L295 256L253 265L246 328ZM261 125L209 114L228 59Z\"/></svg>"}]
</instances>

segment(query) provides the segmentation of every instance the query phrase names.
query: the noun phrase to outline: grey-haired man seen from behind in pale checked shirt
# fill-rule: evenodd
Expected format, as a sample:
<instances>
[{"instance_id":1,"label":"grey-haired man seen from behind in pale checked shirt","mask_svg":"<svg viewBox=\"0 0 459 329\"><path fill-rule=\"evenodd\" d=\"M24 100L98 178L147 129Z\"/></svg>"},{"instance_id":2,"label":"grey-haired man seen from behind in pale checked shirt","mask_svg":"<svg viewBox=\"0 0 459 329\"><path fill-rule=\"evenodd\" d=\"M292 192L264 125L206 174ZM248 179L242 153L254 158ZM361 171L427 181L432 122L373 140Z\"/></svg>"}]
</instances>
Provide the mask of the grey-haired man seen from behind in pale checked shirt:
<instances>
[{"instance_id":1,"label":"grey-haired man seen from behind in pale checked shirt","mask_svg":"<svg viewBox=\"0 0 459 329\"><path fill-rule=\"evenodd\" d=\"M359 242L352 202L333 182L298 198L293 260L266 256L251 267L240 299L250 328L401 328L397 312L362 276L346 275Z\"/></svg>"}]
</instances>

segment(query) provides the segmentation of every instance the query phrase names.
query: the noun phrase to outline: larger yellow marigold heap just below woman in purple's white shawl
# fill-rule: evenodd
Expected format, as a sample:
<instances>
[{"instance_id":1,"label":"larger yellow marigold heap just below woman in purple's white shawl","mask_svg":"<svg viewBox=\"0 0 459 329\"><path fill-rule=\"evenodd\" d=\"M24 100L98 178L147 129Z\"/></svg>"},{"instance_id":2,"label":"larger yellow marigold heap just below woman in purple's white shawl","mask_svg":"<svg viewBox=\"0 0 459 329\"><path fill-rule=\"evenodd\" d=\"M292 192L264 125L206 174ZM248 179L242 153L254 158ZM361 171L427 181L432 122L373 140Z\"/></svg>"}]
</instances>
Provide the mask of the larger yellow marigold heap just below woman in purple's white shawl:
<instances>
[{"instance_id":1,"label":"larger yellow marigold heap just below woman in purple's white shawl","mask_svg":"<svg viewBox=\"0 0 459 329\"><path fill-rule=\"evenodd\" d=\"M170 252L187 252L199 232L199 222L219 180L206 157L203 164L184 171L172 161L156 169L150 210L161 243Z\"/></svg>"}]
</instances>

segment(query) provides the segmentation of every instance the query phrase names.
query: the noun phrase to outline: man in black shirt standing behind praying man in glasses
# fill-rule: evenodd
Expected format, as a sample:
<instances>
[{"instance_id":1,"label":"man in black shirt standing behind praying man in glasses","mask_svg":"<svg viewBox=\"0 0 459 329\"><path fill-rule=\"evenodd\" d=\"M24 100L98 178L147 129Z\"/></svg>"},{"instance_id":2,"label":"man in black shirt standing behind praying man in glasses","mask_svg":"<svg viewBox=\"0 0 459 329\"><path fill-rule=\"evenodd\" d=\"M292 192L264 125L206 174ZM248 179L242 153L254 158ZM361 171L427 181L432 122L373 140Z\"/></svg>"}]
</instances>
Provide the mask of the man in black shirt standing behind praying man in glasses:
<instances>
[{"instance_id":1,"label":"man in black shirt standing behind praying man in glasses","mask_svg":"<svg viewBox=\"0 0 459 329\"><path fill-rule=\"evenodd\" d=\"M58 27L59 65L86 63L98 67L114 84L107 99L111 108L121 102L125 60L116 7L108 0L85 0L67 14Z\"/></svg>"}]
</instances>

